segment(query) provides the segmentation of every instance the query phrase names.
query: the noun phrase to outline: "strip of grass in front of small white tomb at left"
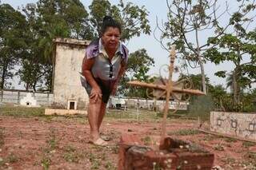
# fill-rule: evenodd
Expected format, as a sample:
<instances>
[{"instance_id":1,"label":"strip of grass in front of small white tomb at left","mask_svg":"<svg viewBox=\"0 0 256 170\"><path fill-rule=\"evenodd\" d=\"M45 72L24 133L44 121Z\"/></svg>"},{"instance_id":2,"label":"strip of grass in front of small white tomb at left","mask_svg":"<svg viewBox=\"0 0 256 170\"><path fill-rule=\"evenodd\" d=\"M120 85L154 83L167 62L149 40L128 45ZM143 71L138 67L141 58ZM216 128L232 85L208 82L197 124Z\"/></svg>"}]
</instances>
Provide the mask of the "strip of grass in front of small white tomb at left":
<instances>
[{"instance_id":1,"label":"strip of grass in front of small white tomb at left","mask_svg":"<svg viewBox=\"0 0 256 170\"><path fill-rule=\"evenodd\" d=\"M10 117L42 117L44 116L44 108L26 108L21 106L4 106L0 108L1 116Z\"/></svg>"}]
</instances>

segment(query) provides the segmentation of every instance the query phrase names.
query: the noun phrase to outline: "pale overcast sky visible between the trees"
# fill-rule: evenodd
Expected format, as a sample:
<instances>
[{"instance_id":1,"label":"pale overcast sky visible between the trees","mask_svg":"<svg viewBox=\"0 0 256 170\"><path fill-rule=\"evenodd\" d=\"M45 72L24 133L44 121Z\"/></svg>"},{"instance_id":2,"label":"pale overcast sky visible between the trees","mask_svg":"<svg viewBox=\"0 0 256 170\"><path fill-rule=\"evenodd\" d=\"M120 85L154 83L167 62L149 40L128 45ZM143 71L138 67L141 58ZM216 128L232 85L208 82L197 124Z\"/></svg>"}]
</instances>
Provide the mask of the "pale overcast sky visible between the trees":
<instances>
[{"instance_id":1,"label":"pale overcast sky visible between the trees","mask_svg":"<svg viewBox=\"0 0 256 170\"><path fill-rule=\"evenodd\" d=\"M117 4L118 0L109 0L112 4ZM232 0L231 0L232 1ZM233 0L234 1L234 0ZM237 6L234 6L234 3L232 1L232 4L230 5L230 8L235 8ZM17 9L18 6L26 5L27 3L31 2L37 2L36 0L2 0L2 3L9 3L11 6L14 6L15 9ZM92 0L82 0L81 1L83 5L86 7L86 10L88 11L88 6L92 2ZM158 73L158 70L161 65L169 63L168 55L169 53L162 49L161 45L155 40L154 38L154 28L156 27L156 17L158 17L158 20L166 21L166 14L167 14L167 7L166 7L166 0L130 0L126 1L123 0L123 2L133 2L134 4L138 6L145 6L146 9L150 12L149 14L149 20L150 20L150 26L152 30L151 35L141 35L139 38L132 38L130 42L127 44L127 47L130 49L130 52L134 52L138 49L146 49L147 53L150 57L154 57L155 66L154 68L150 69L150 74ZM223 18L222 22L226 22ZM255 24L254 24L255 26ZM202 35L202 39L206 36ZM191 38L194 38L193 35ZM178 62L176 63L178 65ZM219 70L227 70L228 72L234 68L234 65L232 63L226 62L221 65L214 65L212 63L206 63L205 65L205 72L207 77L210 77L210 82L214 85L226 84L226 79L218 78L214 76L214 73ZM190 73L200 73L200 69L190 69ZM177 78L178 74L174 76L174 78ZM226 86L226 85L225 85Z\"/></svg>"}]
</instances>

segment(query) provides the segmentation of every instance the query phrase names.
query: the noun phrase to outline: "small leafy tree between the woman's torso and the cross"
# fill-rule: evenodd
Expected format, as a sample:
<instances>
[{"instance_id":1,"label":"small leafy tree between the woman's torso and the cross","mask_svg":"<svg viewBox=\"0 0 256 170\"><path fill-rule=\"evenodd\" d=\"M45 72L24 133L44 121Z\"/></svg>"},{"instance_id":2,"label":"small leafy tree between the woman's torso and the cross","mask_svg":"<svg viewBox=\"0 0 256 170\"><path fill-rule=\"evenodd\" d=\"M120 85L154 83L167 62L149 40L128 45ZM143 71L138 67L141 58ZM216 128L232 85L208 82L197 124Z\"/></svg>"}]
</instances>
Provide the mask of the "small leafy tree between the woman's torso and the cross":
<instances>
[{"instance_id":1,"label":"small leafy tree between the woman's torso and the cross","mask_svg":"<svg viewBox=\"0 0 256 170\"><path fill-rule=\"evenodd\" d=\"M152 81L147 74L150 67L154 66L154 58L150 57L146 53L146 49L138 49L134 53L130 53L130 57L127 64L126 75L120 82L119 92L123 95L130 97L145 97L146 89L137 89L129 87L127 81L138 80L144 82Z\"/></svg>"}]
</instances>

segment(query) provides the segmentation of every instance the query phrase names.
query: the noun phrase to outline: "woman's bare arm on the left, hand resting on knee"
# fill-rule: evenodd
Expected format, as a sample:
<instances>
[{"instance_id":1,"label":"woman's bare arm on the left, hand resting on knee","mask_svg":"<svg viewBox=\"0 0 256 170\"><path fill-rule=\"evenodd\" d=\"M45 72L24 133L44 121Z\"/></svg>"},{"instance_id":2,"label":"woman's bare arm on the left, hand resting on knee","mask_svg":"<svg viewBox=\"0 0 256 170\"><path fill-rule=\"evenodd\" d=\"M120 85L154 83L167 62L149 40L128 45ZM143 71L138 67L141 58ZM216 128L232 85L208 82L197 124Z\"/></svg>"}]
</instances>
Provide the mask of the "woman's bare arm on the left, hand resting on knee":
<instances>
[{"instance_id":1,"label":"woman's bare arm on the left, hand resting on knee","mask_svg":"<svg viewBox=\"0 0 256 170\"><path fill-rule=\"evenodd\" d=\"M97 82L94 80L93 74L91 73L91 69L94 65L94 58L87 59L85 57L82 63L82 75L86 77L86 81L90 84L92 90L90 93L90 99L96 102L98 99L102 98L102 90L98 86Z\"/></svg>"}]
</instances>

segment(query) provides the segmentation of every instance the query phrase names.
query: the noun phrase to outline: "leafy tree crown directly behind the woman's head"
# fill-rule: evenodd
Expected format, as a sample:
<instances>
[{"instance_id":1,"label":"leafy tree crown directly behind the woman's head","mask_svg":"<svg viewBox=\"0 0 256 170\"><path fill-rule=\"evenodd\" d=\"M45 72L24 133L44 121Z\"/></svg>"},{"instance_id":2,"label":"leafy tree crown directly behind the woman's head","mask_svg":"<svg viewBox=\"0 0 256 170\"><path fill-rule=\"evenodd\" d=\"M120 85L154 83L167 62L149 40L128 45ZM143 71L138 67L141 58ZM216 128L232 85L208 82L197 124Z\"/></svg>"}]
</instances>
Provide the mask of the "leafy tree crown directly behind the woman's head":
<instances>
[{"instance_id":1,"label":"leafy tree crown directly behind the woman's head","mask_svg":"<svg viewBox=\"0 0 256 170\"><path fill-rule=\"evenodd\" d=\"M98 36L102 26L102 18L105 15L111 15L118 20L122 25L122 40L130 40L134 36L139 36L141 33L150 34L150 26L148 24L148 12L145 6L134 6L128 2L124 4L122 0L117 6L111 6L108 0L94 0L89 6L90 23L95 28Z\"/></svg>"}]
</instances>

